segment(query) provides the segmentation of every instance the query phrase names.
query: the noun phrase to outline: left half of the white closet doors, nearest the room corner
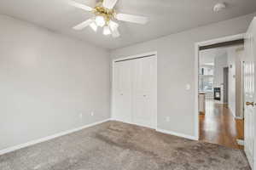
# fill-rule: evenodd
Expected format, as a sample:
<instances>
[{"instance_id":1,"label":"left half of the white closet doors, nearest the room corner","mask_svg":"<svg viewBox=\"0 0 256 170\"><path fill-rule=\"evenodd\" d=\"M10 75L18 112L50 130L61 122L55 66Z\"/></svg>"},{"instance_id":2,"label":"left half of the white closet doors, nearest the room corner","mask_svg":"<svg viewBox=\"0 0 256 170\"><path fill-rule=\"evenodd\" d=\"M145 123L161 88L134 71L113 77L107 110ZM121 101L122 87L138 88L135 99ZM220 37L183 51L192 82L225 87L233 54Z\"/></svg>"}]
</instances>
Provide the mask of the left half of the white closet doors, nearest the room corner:
<instances>
[{"instance_id":1,"label":"left half of the white closet doors, nearest the room corner","mask_svg":"<svg viewBox=\"0 0 256 170\"><path fill-rule=\"evenodd\" d=\"M131 122L131 60L113 64L113 118Z\"/></svg>"}]
</instances>

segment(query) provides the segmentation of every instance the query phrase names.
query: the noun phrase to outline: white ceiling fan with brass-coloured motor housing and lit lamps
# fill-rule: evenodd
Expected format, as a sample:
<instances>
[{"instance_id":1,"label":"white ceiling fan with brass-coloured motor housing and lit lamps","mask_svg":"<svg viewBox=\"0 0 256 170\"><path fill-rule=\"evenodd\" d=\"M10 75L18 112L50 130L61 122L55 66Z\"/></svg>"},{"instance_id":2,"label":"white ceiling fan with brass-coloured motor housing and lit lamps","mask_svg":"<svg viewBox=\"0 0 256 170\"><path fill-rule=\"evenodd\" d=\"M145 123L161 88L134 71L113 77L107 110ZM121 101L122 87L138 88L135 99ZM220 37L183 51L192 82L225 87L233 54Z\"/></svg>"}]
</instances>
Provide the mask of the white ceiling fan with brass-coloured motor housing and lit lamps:
<instances>
[{"instance_id":1,"label":"white ceiling fan with brass-coloured motor housing and lit lamps","mask_svg":"<svg viewBox=\"0 0 256 170\"><path fill-rule=\"evenodd\" d=\"M73 26L74 30L82 30L86 26L90 26L93 31L97 31L98 26L103 27L103 35L112 35L112 37L119 37L119 24L116 20L132 22L136 24L146 24L148 18L143 16L137 16L133 14L121 14L116 13L114 6L118 0L102 0L96 3L95 8L91 8L82 3L76 3L73 0L69 1L69 4L76 8L84 9L95 14L94 17L85 20L77 26Z\"/></svg>"}]
</instances>

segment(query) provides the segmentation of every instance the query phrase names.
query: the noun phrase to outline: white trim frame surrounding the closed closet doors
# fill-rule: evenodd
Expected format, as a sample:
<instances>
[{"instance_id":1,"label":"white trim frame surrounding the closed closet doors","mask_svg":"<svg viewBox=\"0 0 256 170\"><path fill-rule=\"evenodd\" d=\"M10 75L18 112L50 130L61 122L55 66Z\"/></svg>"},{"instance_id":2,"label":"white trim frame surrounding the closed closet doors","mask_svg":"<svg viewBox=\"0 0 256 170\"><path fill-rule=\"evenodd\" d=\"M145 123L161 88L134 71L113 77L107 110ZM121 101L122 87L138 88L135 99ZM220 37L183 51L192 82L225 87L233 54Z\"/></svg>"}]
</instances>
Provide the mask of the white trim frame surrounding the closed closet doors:
<instances>
[{"instance_id":1,"label":"white trim frame surrounding the closed closet doors","mask_svg":"<svg viewBox=\"0 0 256 170\"><path fill-rule=\"evenodd\" d=\"M151 128L157 129L157 51L153 51L153 52L148 52L148 53L144 53L144 54L136 54L136 55L131 55L131 56L127 56L127 57L119 57L117 56L116 59L112 60L112 80L111 80L111 119L112 120L116 120L114 117L114 63L116 61L121 61L121 60L129 60L129 59L140 59L140 58L144 58L144 57L149 57L149 55L155 57L155 70L156 70L156 89L155 89L155 112L154 112L154 125ZM117 121L121 121L121 120L117 120ZM126 123L130 123L130 124L135 124L133 122L126 122ZM141 125L139 125L141 126Z\"/></svg>"}]
</instances>

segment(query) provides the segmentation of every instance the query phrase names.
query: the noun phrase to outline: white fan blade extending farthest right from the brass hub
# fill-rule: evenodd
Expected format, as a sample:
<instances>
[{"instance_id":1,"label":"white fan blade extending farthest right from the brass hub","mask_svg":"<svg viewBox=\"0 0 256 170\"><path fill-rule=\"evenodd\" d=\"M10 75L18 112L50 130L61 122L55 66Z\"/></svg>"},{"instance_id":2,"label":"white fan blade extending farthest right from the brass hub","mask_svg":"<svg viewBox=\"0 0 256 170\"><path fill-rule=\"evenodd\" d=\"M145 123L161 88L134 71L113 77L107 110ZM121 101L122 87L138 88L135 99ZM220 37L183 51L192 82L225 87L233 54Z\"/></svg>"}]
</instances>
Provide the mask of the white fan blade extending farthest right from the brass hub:
<instances>
[{"instance_id":1,"label":"white fan blade extending farthest right from the brass hub","mask_svg":"<svg viewBox=\"0 0 256 170\"><path fill-rule=\"evenodd\" d=\"M127 22L133 22L137 24L146 24L148 22L147 17L137 16L133 14L116 14L116 19L127 21Z\"/></svg>"}]
</instances>

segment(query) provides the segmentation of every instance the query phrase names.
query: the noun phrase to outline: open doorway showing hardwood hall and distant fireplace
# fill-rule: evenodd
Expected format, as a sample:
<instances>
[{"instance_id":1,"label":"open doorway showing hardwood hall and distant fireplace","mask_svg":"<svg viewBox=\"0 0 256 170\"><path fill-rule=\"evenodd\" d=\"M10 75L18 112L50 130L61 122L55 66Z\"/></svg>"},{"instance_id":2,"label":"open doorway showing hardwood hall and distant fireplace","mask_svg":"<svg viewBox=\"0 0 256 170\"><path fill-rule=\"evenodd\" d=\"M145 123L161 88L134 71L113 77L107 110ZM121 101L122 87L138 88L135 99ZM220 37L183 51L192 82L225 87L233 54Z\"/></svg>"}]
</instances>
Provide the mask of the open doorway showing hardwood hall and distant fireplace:
<instances>
[{"instance_id":1,"label":"open doorway showing hardwood hall and distant fireplace","mask_svg":"<svg viewBox=\"0 0 256 170\"><path fill-rule=\"evenodd\" d=\"M243 149L243 37L199 45L199 139Z\"/></svg>"}]
</instances>

